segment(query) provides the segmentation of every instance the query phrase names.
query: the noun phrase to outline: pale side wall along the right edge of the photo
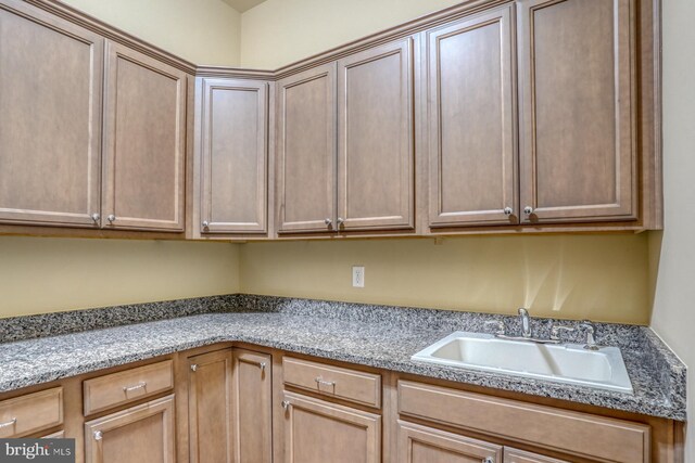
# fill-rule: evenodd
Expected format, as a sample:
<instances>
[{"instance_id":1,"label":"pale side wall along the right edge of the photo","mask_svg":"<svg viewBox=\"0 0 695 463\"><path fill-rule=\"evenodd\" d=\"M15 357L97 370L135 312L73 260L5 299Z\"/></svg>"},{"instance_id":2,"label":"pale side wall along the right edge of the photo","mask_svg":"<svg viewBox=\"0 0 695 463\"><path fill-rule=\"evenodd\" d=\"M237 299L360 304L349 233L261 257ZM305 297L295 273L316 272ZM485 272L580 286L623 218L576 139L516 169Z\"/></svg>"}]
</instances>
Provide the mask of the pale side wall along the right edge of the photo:
<instances>
[{"instance_id":1,"label":"pale side wall along the right edge of the photo","mask_svg":"<svg viewBox=\"0 0 695 463\"><path fill-rule=\"evenodd\" d=\"M695 419L695 2L664 1L662 233L649 236L655 282L652 326L688 366L688 416ZM695 425L686 462L695 462Z\"/></svg>"}]
</instances>

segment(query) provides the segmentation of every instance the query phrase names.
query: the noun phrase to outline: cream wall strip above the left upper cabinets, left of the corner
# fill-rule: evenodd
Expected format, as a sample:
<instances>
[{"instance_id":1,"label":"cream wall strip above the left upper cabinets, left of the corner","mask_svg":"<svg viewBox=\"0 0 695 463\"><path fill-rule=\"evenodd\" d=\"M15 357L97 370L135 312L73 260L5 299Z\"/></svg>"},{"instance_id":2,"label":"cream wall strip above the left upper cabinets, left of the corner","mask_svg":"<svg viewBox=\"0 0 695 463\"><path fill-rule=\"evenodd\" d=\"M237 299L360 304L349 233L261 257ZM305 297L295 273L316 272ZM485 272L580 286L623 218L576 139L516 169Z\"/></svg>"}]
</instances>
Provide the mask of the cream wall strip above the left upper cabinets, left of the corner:
<instances>
[{"instance_id":1,"label":"cream wall strip above the left upper cabinets, left of the corner","mask_svg":"<svg viewBox=\"0 0 695 463\"><path fill-rule=\"evenodd\" d=\"M241 15L223 0L63 0L194 64L238 66Z\"/></svg>"}]
</instances>

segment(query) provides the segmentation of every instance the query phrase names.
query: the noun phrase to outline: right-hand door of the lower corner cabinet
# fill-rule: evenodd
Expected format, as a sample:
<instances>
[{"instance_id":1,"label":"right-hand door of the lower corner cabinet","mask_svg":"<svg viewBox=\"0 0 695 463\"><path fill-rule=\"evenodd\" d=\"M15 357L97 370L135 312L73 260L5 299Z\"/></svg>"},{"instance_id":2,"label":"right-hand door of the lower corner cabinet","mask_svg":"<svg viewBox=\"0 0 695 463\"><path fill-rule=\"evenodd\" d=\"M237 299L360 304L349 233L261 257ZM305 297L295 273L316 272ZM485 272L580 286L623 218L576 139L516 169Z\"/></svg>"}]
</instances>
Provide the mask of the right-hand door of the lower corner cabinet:
<instances>
[{"instance_id":1,"label":"right-hand door of the lower corner cabinet","mask_svg":"<svg viewBox=\"0 0 695 463\"><path fill-rule=\"evenodd\" d=\"M273 461L273 359L233 349L233 449L237 463Z\"/></svg>"}]
</instances>

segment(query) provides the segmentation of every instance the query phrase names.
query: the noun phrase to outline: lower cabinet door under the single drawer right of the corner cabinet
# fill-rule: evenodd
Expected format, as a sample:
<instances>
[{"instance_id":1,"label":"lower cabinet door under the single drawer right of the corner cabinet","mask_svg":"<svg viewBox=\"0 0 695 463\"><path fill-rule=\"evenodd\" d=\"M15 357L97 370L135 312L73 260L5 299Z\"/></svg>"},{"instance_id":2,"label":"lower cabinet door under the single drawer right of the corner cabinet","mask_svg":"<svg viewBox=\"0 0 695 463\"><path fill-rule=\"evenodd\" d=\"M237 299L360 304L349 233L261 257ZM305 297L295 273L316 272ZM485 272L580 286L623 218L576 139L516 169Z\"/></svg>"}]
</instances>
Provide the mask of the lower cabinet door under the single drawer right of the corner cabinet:
<instances>
[{"instance_id":1,"label":"lower cabinet door under the single drawer right of the corner cabinet","mask_svg":"<svg viewBox=\"0 0 695 463\"><path fill-rule=\"evenodd\" d=\"M283 394L287 463L378 463L381 416Z\"/></svg>"}]
</instances>

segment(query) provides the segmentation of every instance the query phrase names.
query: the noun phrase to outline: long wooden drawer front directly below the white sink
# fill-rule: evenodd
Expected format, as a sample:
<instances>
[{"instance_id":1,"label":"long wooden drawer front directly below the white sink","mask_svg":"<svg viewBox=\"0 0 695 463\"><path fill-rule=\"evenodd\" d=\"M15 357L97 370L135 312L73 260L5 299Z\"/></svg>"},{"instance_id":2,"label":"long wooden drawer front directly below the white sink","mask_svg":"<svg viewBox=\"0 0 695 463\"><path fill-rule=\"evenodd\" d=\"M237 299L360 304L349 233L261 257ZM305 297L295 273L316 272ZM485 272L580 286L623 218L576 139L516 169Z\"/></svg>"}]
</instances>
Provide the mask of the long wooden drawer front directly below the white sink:
<instances>
[{"instance_id":1,"label":"long wooden drawer front directly below the white sink","mask_svg":"<svg viewBox=\"0 0 695 463\"><path fill-rule=\"evenodd\" d=\"M399 413L598 461L649 461L647 425L410 381Z\"/></svg>"}]
</instances>

